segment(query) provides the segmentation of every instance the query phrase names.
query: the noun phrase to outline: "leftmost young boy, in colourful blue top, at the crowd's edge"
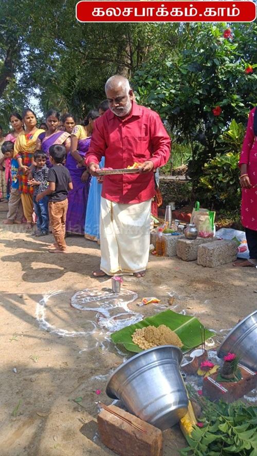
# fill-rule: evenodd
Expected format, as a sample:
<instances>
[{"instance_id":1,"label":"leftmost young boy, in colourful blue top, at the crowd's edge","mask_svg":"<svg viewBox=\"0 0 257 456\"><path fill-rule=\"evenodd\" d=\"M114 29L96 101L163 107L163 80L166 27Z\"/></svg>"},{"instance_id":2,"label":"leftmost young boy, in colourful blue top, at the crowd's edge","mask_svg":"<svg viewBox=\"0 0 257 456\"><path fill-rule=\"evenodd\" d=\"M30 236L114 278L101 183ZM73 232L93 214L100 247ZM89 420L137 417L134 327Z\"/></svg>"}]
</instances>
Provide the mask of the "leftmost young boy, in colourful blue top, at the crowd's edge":
<instances>
[{"instance_id":1,"label":"leftmost young boy, in colourful blue top, at the crowd's edge","mask_svg":"<svg viewBox=\"0 0 257 456\"><path fill-rule=\"evenodd\" d=\"M13 225L13 223L21 224L23 219L22 199L19 193L18 182L18 162L13 158L14 144L11 141L5 141L1 147L4 154L4 160L11 159L11 192L8 201L8 214L7 219L3 221L6 225Z\"/></svg>"}]
</instances>

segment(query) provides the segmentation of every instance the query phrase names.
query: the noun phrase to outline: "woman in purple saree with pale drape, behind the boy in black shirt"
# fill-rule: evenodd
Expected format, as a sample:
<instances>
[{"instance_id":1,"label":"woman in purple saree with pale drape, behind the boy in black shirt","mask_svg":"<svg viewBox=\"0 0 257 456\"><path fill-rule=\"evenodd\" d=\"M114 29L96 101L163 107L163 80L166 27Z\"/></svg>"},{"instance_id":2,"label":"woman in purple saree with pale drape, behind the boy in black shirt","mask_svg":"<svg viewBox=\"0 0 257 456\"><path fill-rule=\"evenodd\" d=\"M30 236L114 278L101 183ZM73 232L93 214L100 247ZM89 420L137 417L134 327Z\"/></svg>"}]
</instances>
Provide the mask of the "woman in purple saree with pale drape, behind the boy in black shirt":
<instances>
[{"instance_id":1,"label":"woman in purple saree with pale drape, behind the boy in black shirt","mask_svg":"<svg viewBox=\"0 0 257 456\"><path fill-rule=\"evenodd\" d=\"M70 149L70 134L59 130L60 113L55 109L49 109L46 113L47 131L41 133L36 141L36 150L43 150L46 155L46 166L51 168L49 160L49 147L53 144L64 145L66 154Z\"/></svg>"}]
</instances>

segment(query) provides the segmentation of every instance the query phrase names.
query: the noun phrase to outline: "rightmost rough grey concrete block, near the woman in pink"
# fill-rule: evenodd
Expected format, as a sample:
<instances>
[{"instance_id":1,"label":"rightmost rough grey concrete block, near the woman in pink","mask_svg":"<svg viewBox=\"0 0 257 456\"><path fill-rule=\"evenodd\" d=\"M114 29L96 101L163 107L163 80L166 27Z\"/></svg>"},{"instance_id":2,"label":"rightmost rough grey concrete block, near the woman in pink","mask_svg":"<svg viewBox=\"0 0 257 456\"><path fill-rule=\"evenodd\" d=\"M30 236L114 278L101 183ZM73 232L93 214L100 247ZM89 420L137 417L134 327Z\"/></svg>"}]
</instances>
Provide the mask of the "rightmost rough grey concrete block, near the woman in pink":
<instances>
[{"instance_id":1,"label":"rightmost rough grey concrete block, near the woman in pink","mask_svg":"<svg viewBox=\"0 0 257 456\"><path fill-rule=\"evenodd\" d=\"M222 239L200 245L197 263L207 268L215 268L221 264L231 263L237 256L237 243L233 240Z\"/></svg>"}]
</instances>

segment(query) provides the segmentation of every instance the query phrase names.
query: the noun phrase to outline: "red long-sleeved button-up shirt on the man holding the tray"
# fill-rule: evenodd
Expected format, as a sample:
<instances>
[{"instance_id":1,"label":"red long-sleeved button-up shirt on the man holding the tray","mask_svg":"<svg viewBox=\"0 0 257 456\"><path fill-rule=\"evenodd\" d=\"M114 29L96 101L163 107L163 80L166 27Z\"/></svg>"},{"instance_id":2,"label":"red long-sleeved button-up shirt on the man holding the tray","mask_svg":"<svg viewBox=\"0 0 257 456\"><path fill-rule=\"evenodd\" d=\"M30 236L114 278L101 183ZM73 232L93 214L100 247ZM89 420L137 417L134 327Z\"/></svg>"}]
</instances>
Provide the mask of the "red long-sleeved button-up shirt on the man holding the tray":
<instances>
[{"instance_id":1,"label":"red long-sleeved button-up shirt on the man holding the tray","mask_svg":"<svg viewBox=\"0 0 257 456\"><path fill-rule=\"evenodd\" d=\"M170 157L171 139L157 112L132 102L130 114L121 119L108 109L94 126L86 165L99 163L119 169L151 160L154 168L163 166ZM153 198L153 171L140 174L104 176L102 197L118 203L140 203Z\"/></svg>"}]
</instances>

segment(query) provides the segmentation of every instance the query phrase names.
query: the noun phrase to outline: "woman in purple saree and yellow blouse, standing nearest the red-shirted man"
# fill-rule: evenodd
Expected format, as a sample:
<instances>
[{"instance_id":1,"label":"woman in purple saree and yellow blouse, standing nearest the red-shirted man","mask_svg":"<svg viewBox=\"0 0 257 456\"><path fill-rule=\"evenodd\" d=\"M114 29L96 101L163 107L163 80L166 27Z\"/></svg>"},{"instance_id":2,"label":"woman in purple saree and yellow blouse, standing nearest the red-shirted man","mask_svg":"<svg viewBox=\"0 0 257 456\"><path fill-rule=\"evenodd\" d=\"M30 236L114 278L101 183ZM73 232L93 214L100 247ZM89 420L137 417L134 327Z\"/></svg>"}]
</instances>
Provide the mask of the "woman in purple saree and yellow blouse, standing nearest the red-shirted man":
<instances>
[{"instance_id":1,"label":"woman in purple saree and yellow blouse, standing nearest the red-shirted man","mask_svg":"<svg viewBox=\"0 0 257 456\"><path fill-rule=\"evenodd\" d=\"M92 109L88 112L83 125L76 125L71 133L71 147L67 156L68 168L73 184L73 190L68 194L68 211L66 217L66 232L84 234L87 197L90 176L84 159L89 148L91 134L99 112Z\"/></svg>"}]
</instances>

